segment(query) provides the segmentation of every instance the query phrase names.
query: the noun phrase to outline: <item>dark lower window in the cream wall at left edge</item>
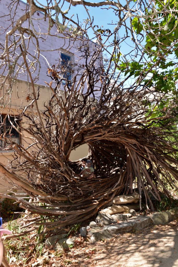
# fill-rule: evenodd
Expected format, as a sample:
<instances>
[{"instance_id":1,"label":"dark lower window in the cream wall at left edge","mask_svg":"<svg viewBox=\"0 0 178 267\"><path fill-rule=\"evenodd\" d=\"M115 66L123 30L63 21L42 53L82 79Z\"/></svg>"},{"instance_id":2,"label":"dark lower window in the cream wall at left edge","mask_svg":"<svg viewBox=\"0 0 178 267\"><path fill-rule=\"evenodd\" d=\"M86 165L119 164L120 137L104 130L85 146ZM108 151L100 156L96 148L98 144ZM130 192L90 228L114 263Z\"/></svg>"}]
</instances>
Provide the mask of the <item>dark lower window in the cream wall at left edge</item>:
<instances>
[{"instance_id":1,"label":"dark lower window in the cream wall at left edge","mask_svg":"<svg viewBox=\"0 0 178 267\"><path fill-rule=\"evenodd\" d=\"M0 150L12 150L11 142L20 144L20 135L16 129L12 127L12 124L19 129L19 121L14 116L0 115L0 134L1 138L6 137L9 141L0 140Z\"/></svg>"}]
</instances>

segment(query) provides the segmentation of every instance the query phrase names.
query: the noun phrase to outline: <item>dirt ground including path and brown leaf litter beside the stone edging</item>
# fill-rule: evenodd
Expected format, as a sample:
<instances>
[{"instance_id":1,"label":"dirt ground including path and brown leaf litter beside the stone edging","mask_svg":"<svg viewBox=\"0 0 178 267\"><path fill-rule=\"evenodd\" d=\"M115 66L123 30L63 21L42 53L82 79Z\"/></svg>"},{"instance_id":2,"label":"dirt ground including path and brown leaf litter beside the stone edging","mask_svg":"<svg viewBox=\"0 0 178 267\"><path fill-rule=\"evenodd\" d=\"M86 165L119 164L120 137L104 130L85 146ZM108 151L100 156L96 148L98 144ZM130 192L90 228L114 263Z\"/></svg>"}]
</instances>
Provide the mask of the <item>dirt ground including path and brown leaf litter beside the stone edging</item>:
<instances>
[{"instance_id":1,"label":"dirt ground including path and brown leaf litter beside the stone edging","mask_svg":"<svg viewBox=\"0 0 178 267\"><path fill-rule=\"evenodd\" d=\"M68 266L81 267L177 267L178 222L151 226L142 231L119 234L115 238L73 248L63 260ZM62 260L62 259L61 259ZM61 265L58 265L61 263ZM62 266L62 262L56 265Z\"/></svg>"}]
</instances>

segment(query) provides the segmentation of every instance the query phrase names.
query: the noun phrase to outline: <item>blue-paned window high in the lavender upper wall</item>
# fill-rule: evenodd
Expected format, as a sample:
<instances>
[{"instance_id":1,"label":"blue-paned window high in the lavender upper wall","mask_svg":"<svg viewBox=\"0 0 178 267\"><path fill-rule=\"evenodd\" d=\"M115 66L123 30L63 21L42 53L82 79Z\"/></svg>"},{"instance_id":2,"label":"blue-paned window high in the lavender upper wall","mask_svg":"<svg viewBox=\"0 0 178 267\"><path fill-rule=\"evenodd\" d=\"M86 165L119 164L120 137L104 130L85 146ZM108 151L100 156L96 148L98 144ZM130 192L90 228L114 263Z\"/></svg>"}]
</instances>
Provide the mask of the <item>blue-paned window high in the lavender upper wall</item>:
<instances>
[{"instance_id":1,"label":"blue-paned window high in the lavender upper wall","mask_svg":"<svg viewBox=\"0 0 178 267\"><path fill-rule=\"evenodd\" d=\"M71 65L72 58L68 54L61 53L61 65L64 66L64 74L63 78L65 80L62 81L63 84L66 84L68 81L69 85L72 80L72 65Z\"/></svg>"}]
</instances>

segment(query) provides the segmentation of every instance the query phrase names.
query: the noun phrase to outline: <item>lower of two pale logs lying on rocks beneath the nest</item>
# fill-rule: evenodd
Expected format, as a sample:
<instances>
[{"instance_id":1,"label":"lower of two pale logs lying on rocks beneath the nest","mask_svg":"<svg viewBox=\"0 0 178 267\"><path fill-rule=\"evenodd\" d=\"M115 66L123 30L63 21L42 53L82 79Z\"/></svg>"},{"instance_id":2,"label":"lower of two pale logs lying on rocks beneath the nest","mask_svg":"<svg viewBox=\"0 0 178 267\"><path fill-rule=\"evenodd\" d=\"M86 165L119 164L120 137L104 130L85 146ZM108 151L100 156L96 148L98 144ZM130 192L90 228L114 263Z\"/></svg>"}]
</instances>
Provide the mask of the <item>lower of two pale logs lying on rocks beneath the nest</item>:
<instances>
[{"instance_id":1,"label":"lower of two pale logs lying on rocks beneath the nest","mask_svg":"<svg viewBox=\"0 0 178 267\"><path fill-rule=\"evenodd\" d=\"M142 210L145 210L145 205L141 204ZM121 213L126 210L134 209L136 211L140 210L140 204L128 204L128 205L112 205L104 210L101 210L100 213L105 213L105 214L116 214L116 213Z\"/></svg>"}]
</instances>

